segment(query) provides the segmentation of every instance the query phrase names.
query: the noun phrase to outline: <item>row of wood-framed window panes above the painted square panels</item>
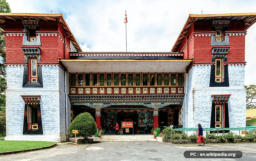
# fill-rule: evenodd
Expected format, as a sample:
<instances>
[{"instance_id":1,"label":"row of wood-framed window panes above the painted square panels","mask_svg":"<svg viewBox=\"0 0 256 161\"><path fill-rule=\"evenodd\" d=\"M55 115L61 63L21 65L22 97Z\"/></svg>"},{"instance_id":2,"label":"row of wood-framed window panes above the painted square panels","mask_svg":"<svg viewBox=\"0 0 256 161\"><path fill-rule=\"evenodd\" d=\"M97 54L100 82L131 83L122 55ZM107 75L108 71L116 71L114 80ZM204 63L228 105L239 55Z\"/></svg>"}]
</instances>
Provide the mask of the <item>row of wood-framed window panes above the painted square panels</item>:
<instances>
[{"instance_id":1,"label":"row of wood-framed window panes above the painted square panels","mask_svg":"<svg viewBox=\"0 0 256 161\"><path fill-rule=\"evenodd\" d=\"M183 86L183 73L70 73L70 87Z\"/></svg>"}]
</instances>

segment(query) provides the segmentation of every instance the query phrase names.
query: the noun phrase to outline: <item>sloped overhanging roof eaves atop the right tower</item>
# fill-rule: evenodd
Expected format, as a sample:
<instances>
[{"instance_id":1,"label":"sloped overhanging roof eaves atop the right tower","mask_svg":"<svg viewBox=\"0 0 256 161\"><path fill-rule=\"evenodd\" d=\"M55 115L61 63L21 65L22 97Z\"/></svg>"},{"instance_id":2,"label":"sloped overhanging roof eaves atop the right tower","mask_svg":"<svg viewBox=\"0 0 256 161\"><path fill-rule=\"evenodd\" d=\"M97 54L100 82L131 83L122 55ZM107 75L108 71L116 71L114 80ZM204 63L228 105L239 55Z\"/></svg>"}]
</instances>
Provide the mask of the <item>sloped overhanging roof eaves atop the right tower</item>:
<instances>
[{"instance_id":1,"label":"sloped overhanging roof eaves atop the right tower","mask_svg":"<svg viewBox=\"0 0 256 161\"><path fill-rule=\"evenodd\" d=\"M196 21L218 21L229 20L233 22L245 22L245 30L256 22L256 13L229 13L229 14L189 14L188 19L183 26L173 48L172 52L177 52L184 36L189 31L191 25Z\"/></svg>"}]
</instances>

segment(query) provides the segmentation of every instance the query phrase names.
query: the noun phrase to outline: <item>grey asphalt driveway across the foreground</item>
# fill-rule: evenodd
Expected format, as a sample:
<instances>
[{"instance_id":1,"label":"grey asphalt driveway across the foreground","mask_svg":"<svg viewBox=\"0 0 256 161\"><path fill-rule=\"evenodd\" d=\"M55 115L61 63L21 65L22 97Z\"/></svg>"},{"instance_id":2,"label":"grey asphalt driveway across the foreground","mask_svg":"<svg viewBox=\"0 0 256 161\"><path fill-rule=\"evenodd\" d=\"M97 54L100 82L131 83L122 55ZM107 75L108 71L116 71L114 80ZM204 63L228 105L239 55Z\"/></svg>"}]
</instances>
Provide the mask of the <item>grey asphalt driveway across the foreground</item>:
<instances>
[{"instance_id":1,"label":"grey asphalt driveway across the foreground","mask_svg":"<svg viewBox=\"0 0 256 161\"><path fill-rule=\"evenodd\" d=\"M170 160L256 160L256 143L168 144L160 142L100 142L90 145L60 144L55 148L0 156L0 161L170 161ZM240 159L186 159L187 150L239 150Z\"/></svg>"}]
</instances>

